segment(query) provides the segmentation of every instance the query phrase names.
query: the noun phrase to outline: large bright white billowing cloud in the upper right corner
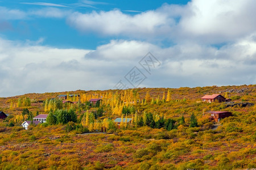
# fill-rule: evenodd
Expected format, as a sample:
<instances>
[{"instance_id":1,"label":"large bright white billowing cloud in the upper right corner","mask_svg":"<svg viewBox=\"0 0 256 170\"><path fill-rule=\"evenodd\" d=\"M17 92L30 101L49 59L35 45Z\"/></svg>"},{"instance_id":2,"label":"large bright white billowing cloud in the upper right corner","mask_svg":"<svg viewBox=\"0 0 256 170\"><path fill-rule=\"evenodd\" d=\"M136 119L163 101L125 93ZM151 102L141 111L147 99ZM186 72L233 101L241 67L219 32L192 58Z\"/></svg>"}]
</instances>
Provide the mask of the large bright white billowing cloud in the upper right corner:
<instances>
[{"instance_id":1,"label":"large bright white billowing cloud in the upper right corner","mask_svg":"<svg viewBox=\"0 0 256 170\"><path fill-rule=\"evenodd\" d=\"M185 9L190 11L181 16L181 33L191 39L208 38L206 42L233 41L255 31L256 15L253 0L204 1L193 0Z\"/></svg>"}]
</instances>

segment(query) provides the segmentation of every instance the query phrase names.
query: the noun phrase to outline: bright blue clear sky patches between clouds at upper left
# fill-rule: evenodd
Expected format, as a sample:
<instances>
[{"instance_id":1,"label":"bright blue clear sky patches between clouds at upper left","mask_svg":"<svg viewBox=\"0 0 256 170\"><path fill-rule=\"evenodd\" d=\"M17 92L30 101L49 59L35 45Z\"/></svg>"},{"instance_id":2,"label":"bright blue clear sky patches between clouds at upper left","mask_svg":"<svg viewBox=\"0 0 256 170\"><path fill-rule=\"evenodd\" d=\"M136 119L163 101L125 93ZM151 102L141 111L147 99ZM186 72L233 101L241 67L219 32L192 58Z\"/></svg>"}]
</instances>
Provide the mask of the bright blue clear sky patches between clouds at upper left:
<instances>
[{"instance_id":1,"label":"bright blue clear sky patches between clouds at upper left","mask_svg":"<svg viewBox=\"0 0 256 170\"><path fill-rule=\"evenodd\" d=\"M42 10L47 7L58 7L60 10L79 11L90 13L92 11L111 11L118 9L124 14L136 15L143 11L155 10L164 3L185 5L188 1L2 1L0 5L9 9L20 11ZM25 20L11 20L9 27L1 33L9 40L44 39L42 44L61 48L96 49L98 45L105 44L111 39L125 38L117 36L102 36L92 32L79 32L67 25L65 18L44 18L38 16ZM61 28L61 29L60 29Z\"/></svg>"}]
</instances>

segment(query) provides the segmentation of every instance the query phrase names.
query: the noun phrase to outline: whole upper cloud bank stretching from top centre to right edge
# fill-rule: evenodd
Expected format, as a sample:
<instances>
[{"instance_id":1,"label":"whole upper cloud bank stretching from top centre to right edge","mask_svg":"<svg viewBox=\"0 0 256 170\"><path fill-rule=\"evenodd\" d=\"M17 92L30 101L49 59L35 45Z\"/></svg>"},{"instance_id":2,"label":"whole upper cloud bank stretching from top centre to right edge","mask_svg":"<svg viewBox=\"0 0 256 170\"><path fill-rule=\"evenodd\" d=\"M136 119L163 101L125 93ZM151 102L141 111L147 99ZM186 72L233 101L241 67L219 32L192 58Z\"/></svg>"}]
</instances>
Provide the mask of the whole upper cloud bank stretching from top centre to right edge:
<instances>
[{"instance_id":1,"label":"whole upper cloud bank stretching from top centre to right edge","mask_svg":"<svg viewBox=\"0 0 256 170\"><path fill-rule=\"evenodd\" d=\"M180 41L217 44L240 39L255 32L253 0L192 0L187 5L164 4L156 10L140 14L124 14L120 10L74 12L68 23L81 32L105 36L128 36L148 39L161 36Z\"/></svg>"}]
</instances>

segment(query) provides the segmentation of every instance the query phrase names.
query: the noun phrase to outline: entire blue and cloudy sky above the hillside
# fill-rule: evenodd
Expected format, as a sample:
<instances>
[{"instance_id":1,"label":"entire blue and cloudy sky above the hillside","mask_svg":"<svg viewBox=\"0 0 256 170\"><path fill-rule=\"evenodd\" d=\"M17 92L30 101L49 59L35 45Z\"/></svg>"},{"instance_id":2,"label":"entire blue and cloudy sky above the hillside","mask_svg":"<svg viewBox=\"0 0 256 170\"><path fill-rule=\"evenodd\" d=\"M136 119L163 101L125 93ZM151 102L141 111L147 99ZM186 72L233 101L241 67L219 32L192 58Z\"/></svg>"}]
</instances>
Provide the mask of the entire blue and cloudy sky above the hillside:
<instances>
[{"instance_id":1,"label":"entire blue and cloudy sky above the hillside","mask_svg":"<svg viewBox=\"0 0 256 170\"><path fill-rule=\"evenodd\" d=\"M253 0L0 0L0 97L256 84Z\"/></svg>"}]
</instances>

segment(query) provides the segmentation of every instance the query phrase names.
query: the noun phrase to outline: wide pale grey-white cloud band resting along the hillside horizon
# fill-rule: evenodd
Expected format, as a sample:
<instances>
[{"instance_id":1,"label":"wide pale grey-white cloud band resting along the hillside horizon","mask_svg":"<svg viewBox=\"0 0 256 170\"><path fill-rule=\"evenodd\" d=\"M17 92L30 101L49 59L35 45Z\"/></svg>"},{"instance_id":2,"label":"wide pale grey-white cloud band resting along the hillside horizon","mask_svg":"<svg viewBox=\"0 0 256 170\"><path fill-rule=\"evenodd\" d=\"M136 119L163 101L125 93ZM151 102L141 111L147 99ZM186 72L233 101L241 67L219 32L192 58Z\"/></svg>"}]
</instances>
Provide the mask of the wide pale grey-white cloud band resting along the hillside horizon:
<instances>
[{"instance_id":1,"label":"wide pale grey-white cloud band resting along the hillside horizon","mask_svg":"<svg viewBox=\"0 0 256 170\"><path fill-rule=\"evenodd\" d=\"M253 84L256 83L253 37L220 49L198 44L160 48L143 41L112 40L96 50L59 49L36 42L0 39L0 96L109 89L124 80L123 76L134 66L148 77L141 85L146 87ZM152 75L138 63L148 50L162 62L158 69L152 70Z\"/></svg>"}]
</instances>

